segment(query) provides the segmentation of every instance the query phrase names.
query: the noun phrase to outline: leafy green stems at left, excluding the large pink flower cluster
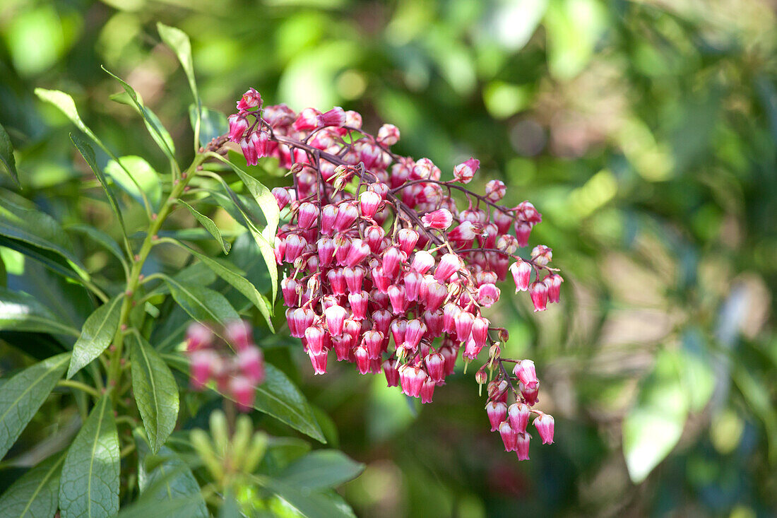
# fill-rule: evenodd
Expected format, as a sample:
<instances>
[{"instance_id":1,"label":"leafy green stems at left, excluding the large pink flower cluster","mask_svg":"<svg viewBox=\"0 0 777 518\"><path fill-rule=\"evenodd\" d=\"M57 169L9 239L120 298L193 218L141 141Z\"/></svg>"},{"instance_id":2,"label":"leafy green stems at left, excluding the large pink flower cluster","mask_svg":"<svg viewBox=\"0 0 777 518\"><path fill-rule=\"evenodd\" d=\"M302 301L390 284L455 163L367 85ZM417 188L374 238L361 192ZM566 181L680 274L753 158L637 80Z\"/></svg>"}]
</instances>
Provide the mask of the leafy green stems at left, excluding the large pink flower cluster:
<instances>
[{"instance_id":1,"label":"leafy green stems at left, excluding the large pink flower cluster","mask_svg":"<svg viewBox=\"0 0 777 518\"><path fill-rule=\"evenodd\" d=\"M0 128L19 182L0 187L0 516L353 516L334 488L361 464L265 431L327 443L262 347L279 320L279 209L230 162L226 117L200 103L186 34L160 24L159 35L194 96L188 166L110 72L123 90L113 99L141 115L169 171L117 156L71 96L37 89L75 124L85 174L18 188ZM215 210L235 219L230 232Z\"/></svg>"}]
</instances>

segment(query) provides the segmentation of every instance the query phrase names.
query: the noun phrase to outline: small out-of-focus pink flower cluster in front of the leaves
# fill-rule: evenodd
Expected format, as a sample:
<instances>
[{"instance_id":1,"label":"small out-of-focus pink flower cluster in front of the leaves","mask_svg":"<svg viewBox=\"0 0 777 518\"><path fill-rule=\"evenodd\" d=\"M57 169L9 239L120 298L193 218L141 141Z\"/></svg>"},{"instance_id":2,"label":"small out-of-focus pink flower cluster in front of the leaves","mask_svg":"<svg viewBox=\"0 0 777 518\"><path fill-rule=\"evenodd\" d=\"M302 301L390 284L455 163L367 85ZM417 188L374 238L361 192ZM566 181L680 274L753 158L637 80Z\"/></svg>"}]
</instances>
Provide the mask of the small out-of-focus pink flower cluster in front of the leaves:
<instances>
[{"instance_id":1,"label":"small out-of-focus pink flower cluster in front of the leaves","mask_svg":"<svg viewBox=\"0 0 777 518\"><path fill-rule=\"evenodd\" d=\"M201 390L214 380L240 410L249 411L256 386L264 381L264 355L253 343L251 327L242 320L231 322L219 334L225 340L199 323L186 331L192 386Z\"/></svg>"}]
</instances>

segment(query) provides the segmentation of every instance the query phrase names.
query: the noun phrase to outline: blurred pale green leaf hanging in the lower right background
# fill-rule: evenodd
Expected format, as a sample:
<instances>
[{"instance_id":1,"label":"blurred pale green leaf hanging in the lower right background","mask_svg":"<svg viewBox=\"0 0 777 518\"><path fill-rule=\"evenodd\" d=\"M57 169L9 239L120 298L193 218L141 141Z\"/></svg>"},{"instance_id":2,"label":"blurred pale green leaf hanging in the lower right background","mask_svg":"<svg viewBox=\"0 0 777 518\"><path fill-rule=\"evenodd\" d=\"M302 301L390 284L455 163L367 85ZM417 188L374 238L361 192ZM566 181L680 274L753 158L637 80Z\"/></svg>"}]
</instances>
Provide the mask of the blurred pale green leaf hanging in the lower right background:
<instances>
[{"instance_id":1,"label":"blurred pale green leaf hanging in the lower right background","mask_svg":"<svg viewBox=\"0 0 777 518\"><path fill-rule=\"evenodd\" d=\"M635 484L645 480L680 440L688 416L680 360L677 352L659 353L636 405L623 420L623 454Z\"/></svg>"}]
</instances>

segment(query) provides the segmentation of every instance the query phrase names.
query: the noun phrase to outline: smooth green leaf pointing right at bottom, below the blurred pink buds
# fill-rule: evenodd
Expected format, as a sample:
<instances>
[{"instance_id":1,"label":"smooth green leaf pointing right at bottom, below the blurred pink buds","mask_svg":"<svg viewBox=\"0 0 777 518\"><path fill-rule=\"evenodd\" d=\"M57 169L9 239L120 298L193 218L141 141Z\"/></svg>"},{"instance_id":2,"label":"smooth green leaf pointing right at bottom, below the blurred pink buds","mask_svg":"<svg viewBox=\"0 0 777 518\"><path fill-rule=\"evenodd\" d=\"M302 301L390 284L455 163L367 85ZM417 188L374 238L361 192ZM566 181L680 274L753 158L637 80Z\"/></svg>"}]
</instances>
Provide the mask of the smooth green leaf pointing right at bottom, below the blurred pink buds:
<instances>
[{"instance_id":1,"label":"smooth green leaf pointing right at bottom, below the blurred pink buds","mask_svg":"<svg viewBox=\"0 0 777 518\"><path fill-rule=\"evenodd\" d=\"M317 450L291 464L277 479L286 485L302 489L334 488L357 478L364 464L351 460L337 450Z\"/></svg>"}]
</instances>

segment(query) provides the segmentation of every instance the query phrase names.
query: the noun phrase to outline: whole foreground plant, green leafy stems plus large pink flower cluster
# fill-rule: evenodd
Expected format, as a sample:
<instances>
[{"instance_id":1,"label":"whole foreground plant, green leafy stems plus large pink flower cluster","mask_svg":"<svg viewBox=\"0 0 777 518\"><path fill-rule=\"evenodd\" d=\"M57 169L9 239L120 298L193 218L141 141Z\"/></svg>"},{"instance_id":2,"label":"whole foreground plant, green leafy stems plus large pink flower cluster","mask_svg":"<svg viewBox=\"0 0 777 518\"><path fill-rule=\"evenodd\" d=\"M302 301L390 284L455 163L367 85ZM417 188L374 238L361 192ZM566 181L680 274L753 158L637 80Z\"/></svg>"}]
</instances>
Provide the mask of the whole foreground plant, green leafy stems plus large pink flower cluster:
<instances>
[{"instance_id":1,"label":"whole foreground plant, green leafy stems plus large pink flower cluster","mask_svg":"<svg viewBox=\"0 0 777 518\"><path fill-rule=\"evenodd\" d=\"M507 451L528 459L532 415L552 443L535 365L503 358L507 330L488 314L508 277L535 311L559 301L552 250L518 255L542 220L534 205L502 205L500 180L468 187L476 159L443 180L430 159L392 152L398 128L373 135L354 111L295 113L264 106L255 89L229 117L207 110L188 37L161 24L159 33L194 96L188 166L138 93L106 71L169 171L116 156L68 94L38 89L75 124L71 140L95 177L70 210L101 198L113 220L63 226L25 191L0 190L0 257L23 266L0 288L0 341L30 357L0 383L0 457L30 468L0 496L0 514L350 516L333 488L361 464L290 447L262 426L274 420L274 430L326 444L305 396L265 359L276 328L301 339L312 373L354 363L422 403L469 369L473 387L486 387L484 425ZM0 140L16 173L5 131ZM265 187L241 154L248 166L271 157L287 186ZM235 225L218 226L214 211ZM98 249L112 267L85 265ZM57 305L65 301L73 308ZM54 446L30 436L30 422L46 419Z\"/></svg>"}]
</instances>

